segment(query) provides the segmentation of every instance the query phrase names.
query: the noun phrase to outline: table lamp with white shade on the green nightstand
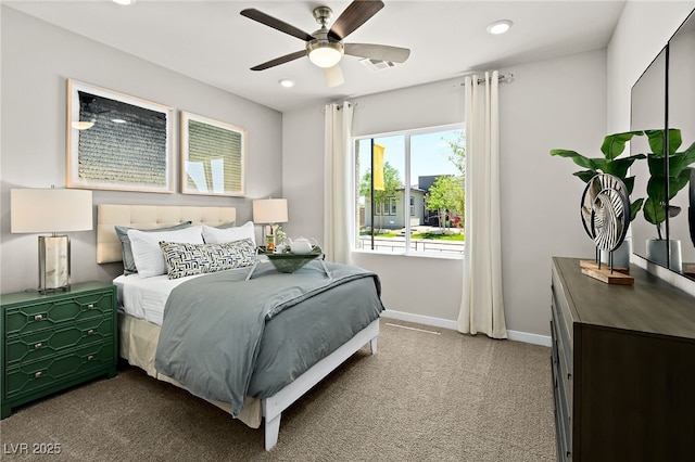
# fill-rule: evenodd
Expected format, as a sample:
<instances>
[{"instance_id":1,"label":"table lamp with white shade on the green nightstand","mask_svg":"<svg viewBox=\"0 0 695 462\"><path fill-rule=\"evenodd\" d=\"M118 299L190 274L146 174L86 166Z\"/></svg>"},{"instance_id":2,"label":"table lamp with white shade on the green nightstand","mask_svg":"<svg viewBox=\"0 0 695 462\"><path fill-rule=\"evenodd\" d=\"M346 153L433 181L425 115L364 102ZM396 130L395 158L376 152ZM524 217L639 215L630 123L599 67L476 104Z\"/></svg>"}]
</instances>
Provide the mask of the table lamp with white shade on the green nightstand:
<instances>
[{"instance_id":1,"label":"table lamp with white shade on the green nightstand","mask_svg":"<svg viewBox=\"0 0 695 462\"><path fill-rule=\"evenodd\" d=\"M70 238L59 232L92 229L91 191L68 189L10 190L13 233L39 236L39 292L70 291Z\"/></svg>"}]
</instances>

